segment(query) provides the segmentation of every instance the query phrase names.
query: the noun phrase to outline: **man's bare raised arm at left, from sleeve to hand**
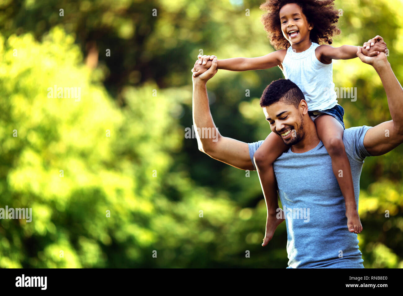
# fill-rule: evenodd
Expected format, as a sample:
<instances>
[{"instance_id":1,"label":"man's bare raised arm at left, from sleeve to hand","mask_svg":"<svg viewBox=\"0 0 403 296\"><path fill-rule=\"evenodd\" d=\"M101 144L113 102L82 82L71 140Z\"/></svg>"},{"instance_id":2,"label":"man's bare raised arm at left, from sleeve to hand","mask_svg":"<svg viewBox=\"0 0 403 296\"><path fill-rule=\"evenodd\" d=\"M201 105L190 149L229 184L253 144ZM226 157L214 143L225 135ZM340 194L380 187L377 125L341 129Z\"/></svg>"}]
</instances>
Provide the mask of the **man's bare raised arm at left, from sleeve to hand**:
<instances>
[{"instance_id":1,"label":"man's bare raised arm at left, from sleeve to hand","mask_svg":"<svg viewBox=\"0 0 403 296\"><path fill-rule=\"evenodd\" d=\"M249 156L247 143L231 138L222 137L210 113L208 104L206 83L217 72L217 58L214 58L210 69L193 79L193 125L195 130L200 128L199 135L196 132L199 150L210 157L222 161L241 170L254 170ZM211 133L210 133L211 131ZM209 135L206 137L206 135ZM211 137L210 137L211 135ZM202 137L201 137L202 136Z\"/></svg>"}]
</instances>

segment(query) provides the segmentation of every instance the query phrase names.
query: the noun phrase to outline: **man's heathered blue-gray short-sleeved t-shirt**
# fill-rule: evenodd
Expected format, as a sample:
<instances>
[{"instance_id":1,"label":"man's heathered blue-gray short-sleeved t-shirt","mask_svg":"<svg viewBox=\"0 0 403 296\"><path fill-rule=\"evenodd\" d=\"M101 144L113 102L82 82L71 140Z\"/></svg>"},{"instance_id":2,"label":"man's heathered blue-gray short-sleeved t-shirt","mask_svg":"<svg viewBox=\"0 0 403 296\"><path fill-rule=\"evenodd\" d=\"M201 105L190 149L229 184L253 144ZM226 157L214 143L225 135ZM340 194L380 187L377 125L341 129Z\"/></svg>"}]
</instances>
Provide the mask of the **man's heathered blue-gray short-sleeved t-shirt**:
<instances>
[{"instance_id":1,"label":"man's heathered blue-gray short-sleeved t-shirt","mask_svg":"<svg viewBox=\"0 0 403 296\"><path fill-rule=\"evenodd\" d=\"M371 127L347 128L343 134L357 206L362 165L372 156L364 147L364 136ZM253 166L253 154L262 143L248 144ZM364 268L357 234L347 228L345 200L322 141L304 153L294 153L290 147L274 161L273 168L285 210L287 268Z\"/></svg>"}]
</instances>

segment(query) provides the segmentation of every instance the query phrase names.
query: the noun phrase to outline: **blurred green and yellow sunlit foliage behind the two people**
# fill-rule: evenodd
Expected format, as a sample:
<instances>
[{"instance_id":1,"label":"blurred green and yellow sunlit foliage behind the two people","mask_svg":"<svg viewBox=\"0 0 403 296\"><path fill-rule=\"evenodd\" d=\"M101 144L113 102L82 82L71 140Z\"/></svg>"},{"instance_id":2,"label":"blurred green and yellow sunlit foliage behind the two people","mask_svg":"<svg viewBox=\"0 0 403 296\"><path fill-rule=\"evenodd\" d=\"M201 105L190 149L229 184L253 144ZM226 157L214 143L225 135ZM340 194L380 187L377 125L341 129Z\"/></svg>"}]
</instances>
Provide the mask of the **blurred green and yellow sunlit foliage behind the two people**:
<instances>
[{"instance_id":1,"label":"blurred green and yellow sunlit foliage behind the two people","mask_svg":"<svg viewBox=\"0 0 403 296\"><path fill-rule=\"evenodd\" d=\"M273 51L263 2L0 1L0 207L33 209L30 223L0 220L0 267L287 267L285 223L261 246L257 173L247 177L185 139L200 50L219 59ZM332 45L381 35L403 81L401 0L335 3L342 33ZM208 94L221 134L264 139L258 99L282 77L278 68L218 70ZM357 101L339 100L346 127L391 119L380 79L358 58L334 61L334 83L357 87ZM81 87L81 100L48 98L54 85ZM365 160L366 268L403 267L402 155L401 146Z\"/></svg>"}]
</instances>

